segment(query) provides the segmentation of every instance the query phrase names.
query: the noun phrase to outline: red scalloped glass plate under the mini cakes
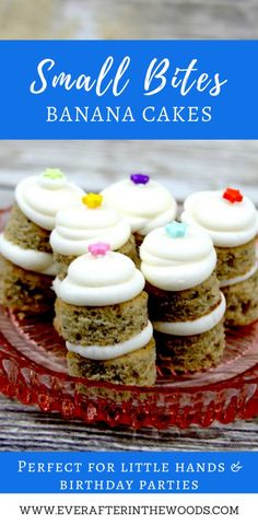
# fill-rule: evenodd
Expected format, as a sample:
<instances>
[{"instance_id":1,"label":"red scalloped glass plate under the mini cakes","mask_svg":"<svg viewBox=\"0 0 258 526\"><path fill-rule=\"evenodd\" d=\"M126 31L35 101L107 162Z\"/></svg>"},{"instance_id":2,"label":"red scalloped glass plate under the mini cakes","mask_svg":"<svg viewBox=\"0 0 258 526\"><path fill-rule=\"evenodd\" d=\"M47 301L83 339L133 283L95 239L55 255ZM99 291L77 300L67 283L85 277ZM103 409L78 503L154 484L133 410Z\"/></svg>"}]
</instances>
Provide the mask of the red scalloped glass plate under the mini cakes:
<instances>
[{"instance_id":1,"label":"red scalloped glass plate under the mini cakes","mask_svg":"<svg viewBox=\"0 0 258 526\"><path fill-rule=\"evenodd\" d=\"M0 213L0 223L5 212ZM1 226L1 224L0 224ZM258 414L258 323L226 335L222 363L209 372L173 376L157 366L151 388L117 386L69 376L66 348L51 322L19 319L0 308L0 391L42 411L112 426L191 423L208 426Z\"/></svg>"}]
</instances>

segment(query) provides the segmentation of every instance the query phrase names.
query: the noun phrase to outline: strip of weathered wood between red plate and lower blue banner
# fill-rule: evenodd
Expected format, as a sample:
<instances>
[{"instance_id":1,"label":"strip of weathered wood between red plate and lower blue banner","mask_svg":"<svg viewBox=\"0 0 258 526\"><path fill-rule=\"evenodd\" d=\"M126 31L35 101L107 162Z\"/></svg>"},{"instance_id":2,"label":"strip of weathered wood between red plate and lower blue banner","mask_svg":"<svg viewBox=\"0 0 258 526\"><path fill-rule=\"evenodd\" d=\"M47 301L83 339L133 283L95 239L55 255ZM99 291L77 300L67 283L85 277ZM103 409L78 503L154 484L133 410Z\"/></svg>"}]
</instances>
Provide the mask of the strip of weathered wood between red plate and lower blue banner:
<instances>
[{"instance_id":1,"label":"strip of weathered wood between red plate and lower blue banner","mask_svg":"<svg viewBox=\"0 0 258 526\"><path fill-rule=\"evenodd\" d=\"M187 430L108 429L67 421L0 396L0 451L234 451L258 449L258 421Z\"/></svg>"}]
</instances>

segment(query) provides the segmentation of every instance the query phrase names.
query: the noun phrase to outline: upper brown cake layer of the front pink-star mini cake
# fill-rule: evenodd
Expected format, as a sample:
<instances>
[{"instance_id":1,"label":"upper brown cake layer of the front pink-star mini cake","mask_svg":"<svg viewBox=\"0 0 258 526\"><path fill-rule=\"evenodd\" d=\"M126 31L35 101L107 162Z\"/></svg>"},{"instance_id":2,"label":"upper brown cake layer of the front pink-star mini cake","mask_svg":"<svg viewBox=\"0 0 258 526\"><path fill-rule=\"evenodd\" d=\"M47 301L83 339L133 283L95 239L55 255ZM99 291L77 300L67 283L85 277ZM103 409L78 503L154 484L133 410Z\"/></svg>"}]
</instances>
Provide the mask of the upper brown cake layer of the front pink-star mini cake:
<instances>
[{"instance_id":1,"label":"upper brown cake layer of the front pink-star mini cake","mask_svg":"<svg viewBox=\"0 0 258 526\"><path fill-rule=\"evenodd\" d=\"M148 325L145 292L127 302L102 307L79 307L57 299L55 307L56 329L66 341L80 346L121 343Z\"/></svg>"}]
</instances>

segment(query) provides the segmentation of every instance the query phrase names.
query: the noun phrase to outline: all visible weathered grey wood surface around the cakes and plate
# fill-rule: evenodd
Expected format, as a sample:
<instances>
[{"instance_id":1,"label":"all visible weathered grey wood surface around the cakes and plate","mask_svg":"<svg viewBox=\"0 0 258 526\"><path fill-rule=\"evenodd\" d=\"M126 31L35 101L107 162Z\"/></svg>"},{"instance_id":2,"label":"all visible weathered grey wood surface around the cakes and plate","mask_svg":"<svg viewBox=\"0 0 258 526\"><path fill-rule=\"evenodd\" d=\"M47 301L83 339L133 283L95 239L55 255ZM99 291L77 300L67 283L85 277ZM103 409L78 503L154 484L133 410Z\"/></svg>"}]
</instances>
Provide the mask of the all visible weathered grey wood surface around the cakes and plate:
<instances>
[{"instance_id":1,"label":"all visible weathered grey wood surface around the cakes and plate","mask_svg":"<svg viewBox=\"0 0 258 526\"><path fill-rule=\"evenodd\" d=\"M39 16L40 13L40 16ZM19 0L0 2L1 38L258 38L257 0ZM0 207L22 177L59 166L87 189L131 172L179 200L198 189L243 188L258 204L257 141L2 141ZM3 191L4 190L4 191ZM0 396L1 451L257 449L258 419L164 432L64 421Z\"/></svg>"}]
</instances>

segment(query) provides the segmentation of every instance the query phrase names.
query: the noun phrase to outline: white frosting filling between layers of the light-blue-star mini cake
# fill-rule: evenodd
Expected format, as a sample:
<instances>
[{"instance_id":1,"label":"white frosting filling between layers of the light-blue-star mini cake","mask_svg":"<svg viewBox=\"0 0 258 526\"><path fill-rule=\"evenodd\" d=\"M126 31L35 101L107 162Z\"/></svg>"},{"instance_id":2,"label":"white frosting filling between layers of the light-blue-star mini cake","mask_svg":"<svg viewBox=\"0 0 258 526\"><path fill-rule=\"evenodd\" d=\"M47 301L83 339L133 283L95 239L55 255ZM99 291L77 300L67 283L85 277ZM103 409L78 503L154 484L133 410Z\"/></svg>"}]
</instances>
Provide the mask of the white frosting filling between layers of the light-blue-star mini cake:
<instances>
[{"instance_id":1,"label":"white frosting filling between layers of the light-blue-star mini cake","mask_svg":"<svg viewBox=\"0 0 258 526\"><path fill-rule=\"evenodd\" d=\"M224 295L221 293L221 302L211 313L194 319L192 322L153 322L153 327L159 332L173 336L201 335L213 329L223 318L226 309Z\"/></svg>"}]
</instances>

